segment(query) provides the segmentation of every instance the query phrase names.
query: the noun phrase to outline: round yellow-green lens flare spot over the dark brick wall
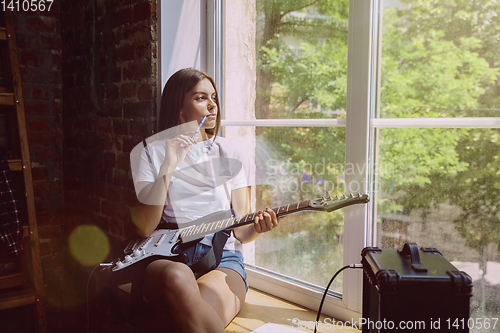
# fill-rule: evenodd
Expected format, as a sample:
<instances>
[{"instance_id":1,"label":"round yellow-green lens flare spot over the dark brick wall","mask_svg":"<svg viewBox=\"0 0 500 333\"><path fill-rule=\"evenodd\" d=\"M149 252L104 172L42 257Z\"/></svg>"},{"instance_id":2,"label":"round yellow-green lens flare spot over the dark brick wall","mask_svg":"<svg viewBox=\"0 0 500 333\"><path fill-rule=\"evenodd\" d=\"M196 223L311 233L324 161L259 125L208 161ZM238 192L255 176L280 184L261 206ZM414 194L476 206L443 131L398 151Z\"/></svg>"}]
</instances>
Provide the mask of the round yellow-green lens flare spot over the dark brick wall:
<instances>
[{"instance_id":1,"label":"round yellow-green lens flare spot over the dark brick wall","mask_svg":"<svg viewBox=\"0 0 500 333\"><path fill-rule=\"evenodd\" d=\"M108 236L95 225L80 225L68 238L68 247L73 258L84 266L95 266L103 262L109 253Z\"/></svg>"}]
</instances>

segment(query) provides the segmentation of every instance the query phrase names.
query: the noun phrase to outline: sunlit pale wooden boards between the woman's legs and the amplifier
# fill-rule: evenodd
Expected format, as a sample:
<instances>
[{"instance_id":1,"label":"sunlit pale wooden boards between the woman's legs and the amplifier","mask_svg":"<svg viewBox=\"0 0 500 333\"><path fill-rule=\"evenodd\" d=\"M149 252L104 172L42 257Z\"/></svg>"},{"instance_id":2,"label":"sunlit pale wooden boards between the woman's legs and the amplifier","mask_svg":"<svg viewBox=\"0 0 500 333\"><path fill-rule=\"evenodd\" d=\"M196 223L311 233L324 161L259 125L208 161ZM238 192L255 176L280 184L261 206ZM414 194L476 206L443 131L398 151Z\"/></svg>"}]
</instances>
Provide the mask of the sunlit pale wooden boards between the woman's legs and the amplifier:
<instances>
[{"instance_id":1,"label":"sunlit pale wooden boards between the woman's legs and the amplifier","mask_svg":"<svg viewBox=\"0 0 500 333\"><path fill-rule=\"evenodd\" d=\"M303 332L314 332L316 315L315 311L250 289L247 293L245 305L233 322L226 327L226 332L249 333L266 323L274 323ZM328 325L329 323L331 324L332 319L325 319L325 316L320 318L320 322L325 325L322 328L319 327L317 332L360 332L351 327L343 329L333 328L332 325ZM279 332L275 331L275 333Z\"/></svg>"}]
</instances>

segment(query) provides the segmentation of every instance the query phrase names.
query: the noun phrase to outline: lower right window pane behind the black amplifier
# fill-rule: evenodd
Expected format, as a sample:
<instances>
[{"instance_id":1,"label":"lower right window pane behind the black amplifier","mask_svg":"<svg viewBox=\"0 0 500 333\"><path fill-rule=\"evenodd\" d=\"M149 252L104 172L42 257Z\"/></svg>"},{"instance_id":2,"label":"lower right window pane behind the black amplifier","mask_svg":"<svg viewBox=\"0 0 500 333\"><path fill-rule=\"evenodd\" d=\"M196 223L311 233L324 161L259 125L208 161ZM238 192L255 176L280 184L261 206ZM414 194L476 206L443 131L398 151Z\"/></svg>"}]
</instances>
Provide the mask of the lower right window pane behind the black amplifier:
<instances>
[{"instance_id":1,"label":"lower right window pane behind the black amplifier","mask_svg":"<svg viewBox=\"0 0 500 333\"><path fill-rule=\"evenodd\" d=\"M500 130L380 129L377 246L434 247L474 280L471 316L500 312Z\"/></svg>"}]
</instances>

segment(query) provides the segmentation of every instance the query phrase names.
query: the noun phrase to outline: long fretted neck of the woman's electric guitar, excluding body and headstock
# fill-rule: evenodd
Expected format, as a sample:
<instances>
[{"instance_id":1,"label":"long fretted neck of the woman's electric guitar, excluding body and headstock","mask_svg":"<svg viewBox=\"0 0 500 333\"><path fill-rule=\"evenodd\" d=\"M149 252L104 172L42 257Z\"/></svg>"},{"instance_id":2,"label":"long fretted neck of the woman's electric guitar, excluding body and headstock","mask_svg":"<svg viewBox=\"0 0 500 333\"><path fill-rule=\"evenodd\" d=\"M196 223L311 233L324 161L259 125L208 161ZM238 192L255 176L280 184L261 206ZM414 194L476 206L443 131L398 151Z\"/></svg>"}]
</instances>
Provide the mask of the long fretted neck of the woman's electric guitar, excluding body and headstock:
<instances>
[{"instance_id":1,"label":"long fretted neck of the woman's electric guitar, excluding body and headstock","mask_svg":"<svg viewBox=\"0 0 500 333\"><path fill-rule=\"evenodd\" d=\"M274 213L276 213L276 216L284 216L292 213L299 212L301 210L306 210L310 208L310 201L305 200L305 201L300 201L297 203L293 204L288 204L284 206L279 206L279 207L274 207L270 208ZM192 240L199 239L200 237L203 237L208 234L212 234L218 231L222 230L230 230L234 229L237 227L241 227L246 224L251 224L254 223L255 217L259 215L258 212L256 213L251 213L247 215L243 215L240 217L231 217L225 220L219 220L219 221L214 221L214 222L209 222L209 223L204 223L201 225L193 225L191 227L188 227L184 230L182 230L180 234L180 238L182 239L183 242L190 242Z\"/></svg>"}]
</instances>

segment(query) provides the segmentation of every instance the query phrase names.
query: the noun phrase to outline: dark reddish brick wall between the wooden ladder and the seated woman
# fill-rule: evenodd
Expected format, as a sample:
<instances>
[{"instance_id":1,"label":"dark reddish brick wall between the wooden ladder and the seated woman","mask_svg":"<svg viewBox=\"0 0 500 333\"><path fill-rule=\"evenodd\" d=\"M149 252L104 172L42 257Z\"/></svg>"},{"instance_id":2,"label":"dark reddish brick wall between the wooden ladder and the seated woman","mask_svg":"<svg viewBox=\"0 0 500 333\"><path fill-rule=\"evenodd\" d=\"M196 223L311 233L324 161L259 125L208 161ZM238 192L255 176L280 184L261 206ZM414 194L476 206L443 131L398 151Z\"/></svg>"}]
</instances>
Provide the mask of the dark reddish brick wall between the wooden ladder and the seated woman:
<instances>
[{"instance_id":1,"label":"dark reddish brick wall between the wooden ladder and the seated woman","mask_svg":"<svg viewBox=\"0 0 500 333\"><path fill-rule=\"evenodd\" d=\"M68 237L132 232L130 150L155 131L156 1L60 0L15 13L49 332L86 331L92 267ZM90 242L90 240L89 240Z\"/></svg>"}]
</instances>

